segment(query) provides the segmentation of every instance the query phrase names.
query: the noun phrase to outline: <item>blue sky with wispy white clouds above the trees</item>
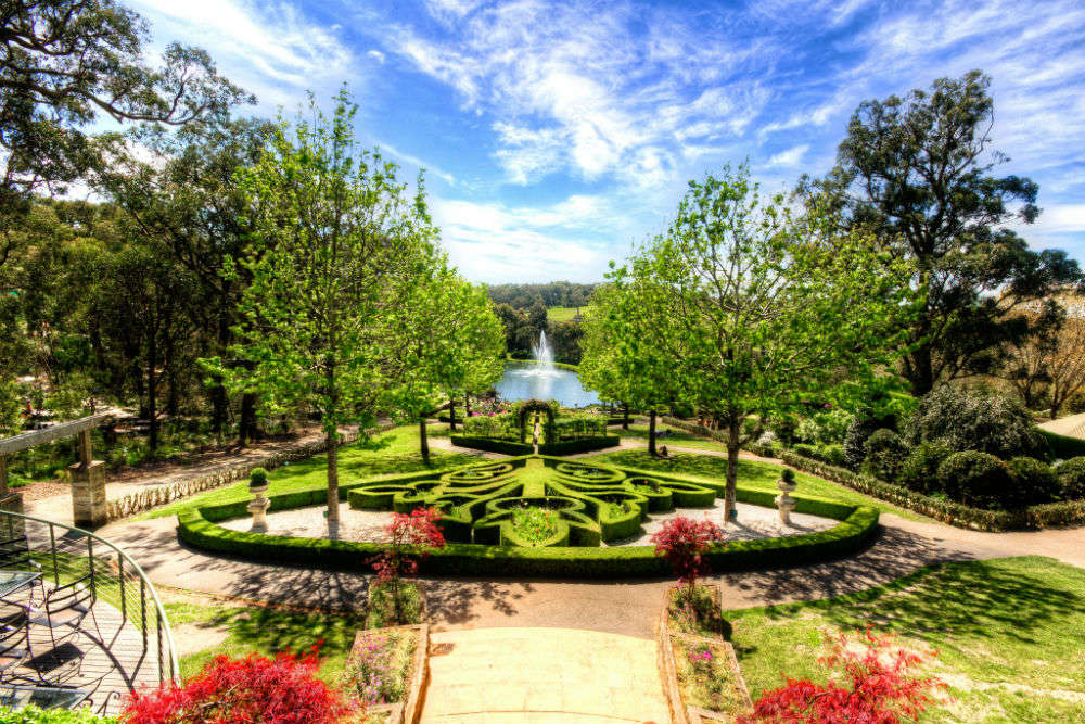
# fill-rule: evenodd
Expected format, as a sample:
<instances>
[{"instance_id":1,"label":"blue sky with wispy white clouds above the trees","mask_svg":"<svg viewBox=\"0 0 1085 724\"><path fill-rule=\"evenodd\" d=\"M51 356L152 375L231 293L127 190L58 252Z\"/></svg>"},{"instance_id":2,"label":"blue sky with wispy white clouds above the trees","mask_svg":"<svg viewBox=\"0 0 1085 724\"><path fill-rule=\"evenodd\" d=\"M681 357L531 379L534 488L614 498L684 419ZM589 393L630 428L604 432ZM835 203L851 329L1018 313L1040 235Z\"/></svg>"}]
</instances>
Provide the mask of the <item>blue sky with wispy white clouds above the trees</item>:
<instances>
[{"instance_id":1,"label":"blue sky with wispy white clouds above the trees","mask_svg":"<svg viewBox=\"0 0 1085 724\"><path fill-rule=\"evenodd\" d=\"M689 179L825 174L855 107L980 68L1004 174L1039 183L1034 249L1085 263L1081 0L127 0L152 48L207 50L288 116L345 82L357 136L425 168L444 247L486 283L601 281Z\"/></svg>"}]
</instances>

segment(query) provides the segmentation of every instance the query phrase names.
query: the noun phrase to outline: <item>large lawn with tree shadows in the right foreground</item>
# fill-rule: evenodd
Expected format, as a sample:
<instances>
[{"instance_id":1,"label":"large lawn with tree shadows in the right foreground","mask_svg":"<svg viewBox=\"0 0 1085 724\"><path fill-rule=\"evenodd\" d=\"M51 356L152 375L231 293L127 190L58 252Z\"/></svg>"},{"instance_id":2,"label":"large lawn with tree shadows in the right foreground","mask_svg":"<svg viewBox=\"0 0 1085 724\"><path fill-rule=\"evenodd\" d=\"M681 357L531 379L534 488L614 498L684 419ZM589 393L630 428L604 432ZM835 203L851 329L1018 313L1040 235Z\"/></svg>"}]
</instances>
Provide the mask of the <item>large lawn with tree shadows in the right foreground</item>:
<instances>
[{"instance_id":1,"label":"large lawn with tree shadows in the right foreground","mask_svg":"<svg viewBox=\"0 0 1085 724\"><path fill-rule=\"evenodd\" d=\"M922 722L1085 722L1085 570L1049 558L947 563L821 601L725 611L750 693L827 679L822 631L872 624L935 649L947 701Z\"/></svg>"}]
</instances>

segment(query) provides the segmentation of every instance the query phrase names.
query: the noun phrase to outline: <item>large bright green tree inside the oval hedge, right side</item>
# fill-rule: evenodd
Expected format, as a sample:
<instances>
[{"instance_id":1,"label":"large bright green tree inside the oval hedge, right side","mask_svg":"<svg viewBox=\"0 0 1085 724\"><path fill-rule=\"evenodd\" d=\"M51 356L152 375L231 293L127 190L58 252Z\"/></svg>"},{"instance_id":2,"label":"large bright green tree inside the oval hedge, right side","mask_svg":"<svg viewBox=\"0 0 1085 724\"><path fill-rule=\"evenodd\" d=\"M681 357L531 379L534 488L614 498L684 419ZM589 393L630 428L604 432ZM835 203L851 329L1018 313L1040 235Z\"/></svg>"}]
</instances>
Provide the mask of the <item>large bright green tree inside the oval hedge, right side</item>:
<instances>
[{"instance_id":1,"label":"large bright green tree inside the oval hedge, right side","mask_svg":"<svg viewBox=\"0 0 1085 724\"><path fill-rule=\"evenodd\" d=\"M741 166L690 181L666 233L612 274L651 290L647 323L662 363L727 433L728 518L748 418L891 357L891 321L911 300L904 266L819 213L793 216L782 198L761 198Z\"/></svg>"}]
</instances>

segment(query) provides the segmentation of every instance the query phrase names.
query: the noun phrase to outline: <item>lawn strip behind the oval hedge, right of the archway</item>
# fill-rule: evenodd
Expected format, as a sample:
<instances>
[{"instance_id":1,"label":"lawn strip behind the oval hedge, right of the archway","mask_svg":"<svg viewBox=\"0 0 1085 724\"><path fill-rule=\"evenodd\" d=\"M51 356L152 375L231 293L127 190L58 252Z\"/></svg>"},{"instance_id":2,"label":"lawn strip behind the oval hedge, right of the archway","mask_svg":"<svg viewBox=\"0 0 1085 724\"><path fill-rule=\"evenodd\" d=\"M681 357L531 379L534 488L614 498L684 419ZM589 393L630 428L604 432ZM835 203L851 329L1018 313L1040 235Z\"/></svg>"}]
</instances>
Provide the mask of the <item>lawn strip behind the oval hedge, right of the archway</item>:
<instances>
[{"instance_id":1,"label":"lawn strip behind the oval hedge, right of the archway","mask_svg":"<svg viewBox=\"0 0 1085 724\"><path fill-rule=\"evenodd\" d=\"M601 462L641 470L658 470L679 475L706 478L716 482L727 475L727 458L715 455L698 455L695 453L673 453L666 459L653 458L648 450L618 450L600 453L584 459L585 462ZM776 481L780 477L780 466L754 460L739 460L739 484L761 490L776 491ZM876 508L879 512L891 512L909 520L924 520L910 510L872 498L869 495L856 493L821 478L814 478L802 472L795 473L799 482L799 495L831 498L850 505L865 505Z\"/></svg>"}]
</instances>

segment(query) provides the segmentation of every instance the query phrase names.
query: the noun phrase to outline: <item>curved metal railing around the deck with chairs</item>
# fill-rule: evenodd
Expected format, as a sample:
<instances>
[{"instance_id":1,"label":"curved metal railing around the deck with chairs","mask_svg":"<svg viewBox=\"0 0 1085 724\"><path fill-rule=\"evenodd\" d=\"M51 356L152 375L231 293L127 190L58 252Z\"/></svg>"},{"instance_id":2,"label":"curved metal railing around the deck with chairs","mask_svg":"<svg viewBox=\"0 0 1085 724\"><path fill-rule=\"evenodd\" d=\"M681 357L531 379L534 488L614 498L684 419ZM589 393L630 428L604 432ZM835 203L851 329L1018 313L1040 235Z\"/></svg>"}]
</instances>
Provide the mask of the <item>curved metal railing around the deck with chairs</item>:
<instances>
[{"instance_id":1,"label":"curved metal railing around the deck with chairs","mask_svg":"<svg viewBox=\"0 0 1085 724\"><path fill-rule=\"evenodd\" d=\"M131 691L178 679L166 612L151 581L128 554L89 531L0 510L0 538L24 536L47 596L51 588L76 581L89 589L98 628L97 636L89 636L102 648L102 665L116 670L111 682Z\"/></svg>"}]
</instances>

